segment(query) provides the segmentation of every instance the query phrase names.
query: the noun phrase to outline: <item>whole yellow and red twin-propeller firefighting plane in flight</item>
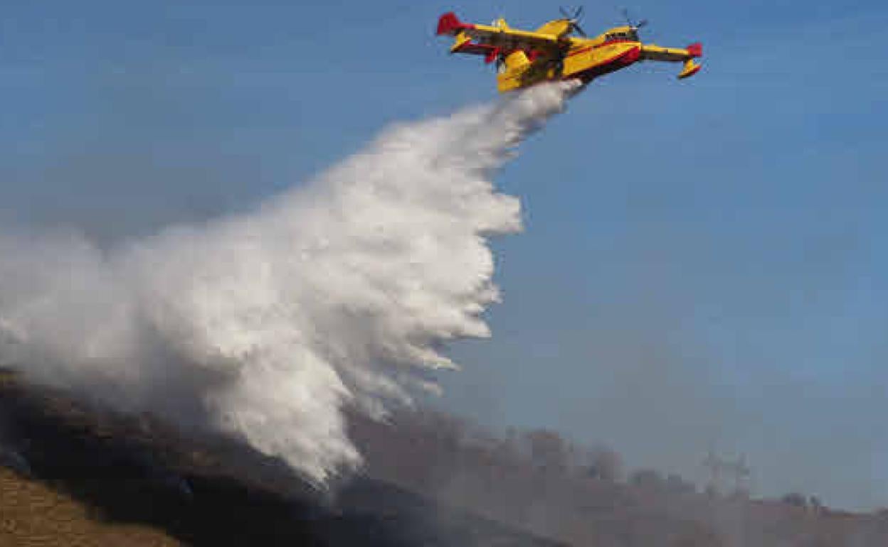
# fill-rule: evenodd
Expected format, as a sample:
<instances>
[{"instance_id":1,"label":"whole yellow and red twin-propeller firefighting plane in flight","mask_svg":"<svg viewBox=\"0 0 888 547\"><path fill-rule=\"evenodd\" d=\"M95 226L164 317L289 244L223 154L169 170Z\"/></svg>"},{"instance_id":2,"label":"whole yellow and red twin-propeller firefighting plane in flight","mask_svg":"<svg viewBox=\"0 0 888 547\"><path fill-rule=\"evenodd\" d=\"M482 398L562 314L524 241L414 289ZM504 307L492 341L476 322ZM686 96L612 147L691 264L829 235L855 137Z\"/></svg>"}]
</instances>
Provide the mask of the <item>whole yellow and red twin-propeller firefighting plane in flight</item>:
<instances>
[{"instance_id":1,"label":"whole yellow and red twin-propeller firefighting plane in flight","mask_svg":"<svg viewBox=\"0 0 888 547\"><path fill-rule=\"evenodd\" d=\"M493 25L464 23L452 12L438 21L438 35L454 36L451 53L483 55L487 63L502 61L496 76L500 92L519 90L539 82L580 80L591 82L640 60L684 63L678 78L700 71L694 59L702 57L702 44L664 48L641 43L637 27L614 27L593 38L569 35L574 22L551 20L530 32L510 28L505 20Z\"/></svg>"}]
</instances>

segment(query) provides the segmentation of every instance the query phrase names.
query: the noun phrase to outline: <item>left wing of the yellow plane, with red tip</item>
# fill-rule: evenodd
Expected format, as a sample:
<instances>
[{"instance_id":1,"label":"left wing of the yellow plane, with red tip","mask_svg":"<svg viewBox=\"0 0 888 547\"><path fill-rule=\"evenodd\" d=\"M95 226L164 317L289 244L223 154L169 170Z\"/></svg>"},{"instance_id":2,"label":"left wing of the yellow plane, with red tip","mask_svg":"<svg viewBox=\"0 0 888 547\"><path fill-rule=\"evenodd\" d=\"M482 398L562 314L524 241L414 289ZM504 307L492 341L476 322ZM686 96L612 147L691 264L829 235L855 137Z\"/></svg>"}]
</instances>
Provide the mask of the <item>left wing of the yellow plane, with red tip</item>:
<instances>
[{"instance_id":1,"label":"left wing of the yellow plane, with red tip","mask_svg":"<svg viewBox=\"0 0 888 547\"><path fill-rule=\"evenodd\" d=\"M451 53L484 55L488 63L496 59L501 52L516 50L554 52L560 47L559 39L554 35L515 30L505 27L504 24L502 27L491 27L464 23L453 12L441 15L438 20L438 35L456 37L456 42L450 48Z\"/></svg>"}]
</instances>

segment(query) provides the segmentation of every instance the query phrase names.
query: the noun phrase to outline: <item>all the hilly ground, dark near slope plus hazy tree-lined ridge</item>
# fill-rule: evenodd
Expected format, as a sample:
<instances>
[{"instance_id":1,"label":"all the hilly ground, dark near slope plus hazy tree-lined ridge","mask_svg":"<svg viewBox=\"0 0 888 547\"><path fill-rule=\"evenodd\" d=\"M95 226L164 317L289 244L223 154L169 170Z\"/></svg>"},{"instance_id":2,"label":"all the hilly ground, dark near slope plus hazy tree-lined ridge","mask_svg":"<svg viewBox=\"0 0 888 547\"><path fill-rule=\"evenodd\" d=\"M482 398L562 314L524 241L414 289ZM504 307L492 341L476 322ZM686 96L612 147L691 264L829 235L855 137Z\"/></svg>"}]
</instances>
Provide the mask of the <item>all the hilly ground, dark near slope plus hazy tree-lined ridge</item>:
<instances>
[{"instance_id":1,"label":"all the hilly ground, dark near slope plus hazy tree-lined ridge","mask_svg":"<svg viewBox=\"0 0 888 547\"><path fill-rule=\"evenodd\" d=\"M884 514L704 495L649 470L624 480L618 456L583 459L553 432L496 438L430 411L353 418L367 475L335 495L241 443L10 375L0 418L2 546L888 545Z\"/></svg>"}]
</instances>

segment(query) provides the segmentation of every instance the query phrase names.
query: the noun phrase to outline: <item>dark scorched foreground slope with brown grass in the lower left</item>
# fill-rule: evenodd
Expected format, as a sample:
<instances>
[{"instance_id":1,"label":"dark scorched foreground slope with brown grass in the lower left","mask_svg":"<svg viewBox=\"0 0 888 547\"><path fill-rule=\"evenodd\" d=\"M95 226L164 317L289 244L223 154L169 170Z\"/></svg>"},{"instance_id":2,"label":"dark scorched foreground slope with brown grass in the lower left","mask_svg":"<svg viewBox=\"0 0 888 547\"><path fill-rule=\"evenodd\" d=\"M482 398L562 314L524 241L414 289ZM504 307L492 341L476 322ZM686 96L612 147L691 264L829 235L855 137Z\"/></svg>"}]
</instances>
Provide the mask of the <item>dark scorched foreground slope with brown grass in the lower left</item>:
<instances>
[{"instance_id":1,"label":"dark scorched foreground slope with brown grass in the lower left","mask_svg":"<svg viewBox=\"0 0 888 547\"><path fill-rule=\"evenodd\" d=\"M235 442L0 385L0 545L546 546L382 481L322 495ZM122 542L121 538L126 541Z\"/></svg>"}]
</instances>

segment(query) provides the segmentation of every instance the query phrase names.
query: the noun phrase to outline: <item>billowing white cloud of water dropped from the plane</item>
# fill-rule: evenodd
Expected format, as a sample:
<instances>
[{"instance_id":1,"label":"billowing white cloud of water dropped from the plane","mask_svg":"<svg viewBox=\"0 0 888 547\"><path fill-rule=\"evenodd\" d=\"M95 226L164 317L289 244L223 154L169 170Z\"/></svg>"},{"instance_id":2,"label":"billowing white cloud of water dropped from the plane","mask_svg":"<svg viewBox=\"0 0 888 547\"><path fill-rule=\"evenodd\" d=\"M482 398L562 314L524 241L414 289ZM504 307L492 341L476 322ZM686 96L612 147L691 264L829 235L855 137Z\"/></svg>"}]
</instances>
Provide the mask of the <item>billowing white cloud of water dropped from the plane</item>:
<instances>
[{"instance_id":1,"label":"billowing white cloud of water dropped from the plane","mask_svg":"<svg viewBox=\"0 0 888 547\"><path fill-rule=\"evenodd\" d=\"M485 337L487 238L520 230L491 177L575 83L387 129L248 215L102 251L0 234L0 363L29 379L233 434L313 481L360 465L371 418Z\"/></svg>"}]
</instances>

